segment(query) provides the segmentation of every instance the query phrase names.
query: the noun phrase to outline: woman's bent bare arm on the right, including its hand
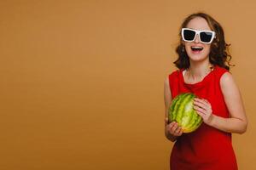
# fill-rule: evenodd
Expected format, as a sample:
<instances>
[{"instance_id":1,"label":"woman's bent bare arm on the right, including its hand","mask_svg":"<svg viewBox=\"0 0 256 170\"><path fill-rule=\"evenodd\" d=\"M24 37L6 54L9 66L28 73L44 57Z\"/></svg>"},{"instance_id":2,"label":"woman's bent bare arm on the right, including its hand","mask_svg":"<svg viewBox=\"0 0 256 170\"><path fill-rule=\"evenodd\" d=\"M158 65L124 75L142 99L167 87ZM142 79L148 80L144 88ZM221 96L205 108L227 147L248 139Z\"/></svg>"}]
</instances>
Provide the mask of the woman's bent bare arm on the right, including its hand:
<instances>
[{"instance_id":1,"label":"woman's bent bare arm on the right, including its hand","mask_svg":"<svg viewBox=\"0 0 256 170\"><path fill-rule=\"evenodd\" d=\"M228 133L245 133L247 130L247 116L240 91L229 72L224 73L221 77L220 87L224 94L225 104L230 112L230 118L212 115L212 113L209 114L211 106L207 104L206 100L197 99L195 101L195 110L202 116L204 122L212 127Z\"/></svg>"}]
</instances>

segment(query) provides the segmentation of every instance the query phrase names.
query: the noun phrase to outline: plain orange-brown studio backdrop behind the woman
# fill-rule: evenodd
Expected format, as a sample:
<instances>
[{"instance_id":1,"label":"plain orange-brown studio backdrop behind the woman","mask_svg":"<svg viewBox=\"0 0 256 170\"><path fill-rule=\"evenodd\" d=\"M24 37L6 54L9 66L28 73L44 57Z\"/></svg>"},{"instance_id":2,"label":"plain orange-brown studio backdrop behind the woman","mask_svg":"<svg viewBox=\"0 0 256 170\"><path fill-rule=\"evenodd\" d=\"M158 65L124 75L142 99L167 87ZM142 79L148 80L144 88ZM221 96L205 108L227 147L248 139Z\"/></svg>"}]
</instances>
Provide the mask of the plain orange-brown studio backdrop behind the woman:
<instances>
[{"instance_id":1,"label":"plain orange-brown studio backdrop behind the woman","mask_svg":"<svg viewBox=\"0 0 256 170\"><path fill-rule=\"evenodd\" d=\"M253 0L0 1L0 169L168 169L164 78L183 18L199 10L232 44L249 120L233 145L240 169L255 169L255 8Z\"/></svg>"}]
</instances>

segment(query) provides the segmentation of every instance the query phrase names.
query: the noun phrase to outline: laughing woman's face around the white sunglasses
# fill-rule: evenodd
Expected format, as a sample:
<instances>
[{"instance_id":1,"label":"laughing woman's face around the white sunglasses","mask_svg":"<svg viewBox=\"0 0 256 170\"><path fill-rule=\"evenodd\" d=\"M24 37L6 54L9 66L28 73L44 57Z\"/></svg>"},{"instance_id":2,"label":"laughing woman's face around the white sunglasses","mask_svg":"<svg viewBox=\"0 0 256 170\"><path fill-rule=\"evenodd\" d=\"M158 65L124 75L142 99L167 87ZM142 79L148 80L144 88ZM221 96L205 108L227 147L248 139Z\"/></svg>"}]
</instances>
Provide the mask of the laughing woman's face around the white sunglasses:
<instances>
[{"instance_id":1,"label":"laughing woman's face around the white sunglasses","mask_svg":"<svg viewBox=\"0 0 256 170\"><path fill-rule=\"evenodd\" d=\"M190 20L186 28L198 31L212 31L207 24L207 20L201 17L196 17L195 19ZM199 35L196 35L195 40L193 42L183 41L183 44L191 61L202 61L208 59L211 44L200 42ZM199 50L198 48L202 49Z\"/></svg>"}]
</instances>

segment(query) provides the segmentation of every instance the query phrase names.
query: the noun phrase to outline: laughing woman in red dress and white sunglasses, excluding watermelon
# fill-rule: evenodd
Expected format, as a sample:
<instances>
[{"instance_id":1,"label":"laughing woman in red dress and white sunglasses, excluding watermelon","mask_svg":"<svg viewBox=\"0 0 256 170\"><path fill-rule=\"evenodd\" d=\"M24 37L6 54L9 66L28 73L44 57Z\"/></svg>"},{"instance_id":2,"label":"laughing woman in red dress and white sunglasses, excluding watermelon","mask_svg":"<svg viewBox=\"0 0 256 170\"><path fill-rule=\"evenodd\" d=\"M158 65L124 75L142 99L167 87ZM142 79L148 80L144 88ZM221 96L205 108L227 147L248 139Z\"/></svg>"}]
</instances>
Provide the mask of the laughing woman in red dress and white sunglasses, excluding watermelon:
<instances>
[{"instance_id":1,"label":"laughing woman in red dress and white sunglasses, excluding watermelon","mask_svg":"<svg viewBox=\"0 0 256 170\"><path fill-rule=\"evenodd\" d=\"M222 26L210 15L189 15L181 26L179 70L165 80L166 138L175 142L172 170L237 169L231 133L245 133L247 116L241 94L230 74L230 54ZM203 123L193 133L183 133L168 122L168 108L177 94L193 93L194 109Z\"/></svg>"}]
</instances>

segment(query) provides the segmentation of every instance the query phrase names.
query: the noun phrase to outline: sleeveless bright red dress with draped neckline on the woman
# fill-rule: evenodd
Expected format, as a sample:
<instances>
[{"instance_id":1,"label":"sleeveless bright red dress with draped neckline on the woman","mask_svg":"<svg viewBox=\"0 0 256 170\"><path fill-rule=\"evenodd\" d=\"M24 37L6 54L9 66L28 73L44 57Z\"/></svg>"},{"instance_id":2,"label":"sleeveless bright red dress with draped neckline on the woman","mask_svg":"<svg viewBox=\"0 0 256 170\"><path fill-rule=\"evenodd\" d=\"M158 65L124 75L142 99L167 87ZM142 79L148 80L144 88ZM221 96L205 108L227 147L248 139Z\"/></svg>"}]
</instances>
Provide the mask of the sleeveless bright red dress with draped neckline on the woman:
<instances>
[{"instance_id":1,"label":"sleeveless bright red dress with draped neckline on the woman","mask_svg":"<svg viewBox=\"0 0 256 170\"><path fill-rule=\"evenodd\" d=\"M220 77L227 72L216 65L201 82L188 84L183 79L183 69L169 75L172 99L177 94L193 93L207 99L212 114L229 117L220 88ZM172 170L237 170L236 156L231 144L231 133L225 133L205 123L193 133L183 133L177 138L170 158Z\"/></svg>"}]
</instances>

